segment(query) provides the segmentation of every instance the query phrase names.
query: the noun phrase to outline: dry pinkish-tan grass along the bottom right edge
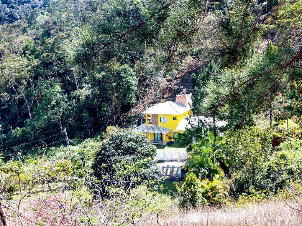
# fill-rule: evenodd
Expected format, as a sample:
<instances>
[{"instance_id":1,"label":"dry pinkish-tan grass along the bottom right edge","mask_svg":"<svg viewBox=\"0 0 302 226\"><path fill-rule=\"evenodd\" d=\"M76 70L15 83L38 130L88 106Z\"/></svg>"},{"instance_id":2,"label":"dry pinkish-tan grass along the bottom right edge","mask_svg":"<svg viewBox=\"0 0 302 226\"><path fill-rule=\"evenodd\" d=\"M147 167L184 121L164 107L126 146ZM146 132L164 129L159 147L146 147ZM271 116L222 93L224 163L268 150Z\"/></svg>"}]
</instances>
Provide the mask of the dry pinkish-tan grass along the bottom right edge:
<instances>
[{"instance_id":1,"label":"dry pinkish-tan grass along the bottom right edge","mask_svg":"<svg viewBox=\"0 0 302 226\"><path fill-rule=\"evenodd\" d=\"M288 202L295 207L295 202ZM172 211L174 212L174 211ZM291 209L284 201L270 201L246 208L191 209L158 217L160 225L173 226L300 226L302 214ZM143 225L158 225L153 219Z\"/></svg>"}]
</instances>

